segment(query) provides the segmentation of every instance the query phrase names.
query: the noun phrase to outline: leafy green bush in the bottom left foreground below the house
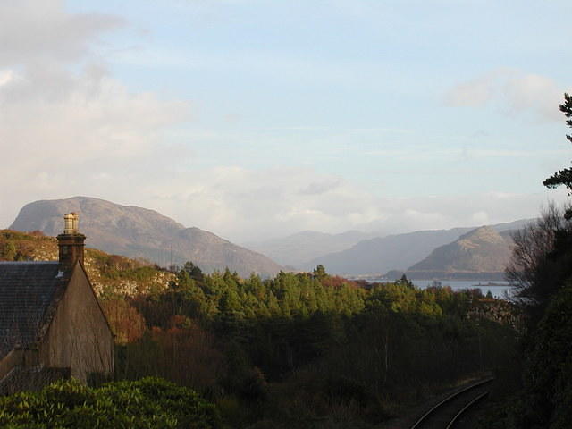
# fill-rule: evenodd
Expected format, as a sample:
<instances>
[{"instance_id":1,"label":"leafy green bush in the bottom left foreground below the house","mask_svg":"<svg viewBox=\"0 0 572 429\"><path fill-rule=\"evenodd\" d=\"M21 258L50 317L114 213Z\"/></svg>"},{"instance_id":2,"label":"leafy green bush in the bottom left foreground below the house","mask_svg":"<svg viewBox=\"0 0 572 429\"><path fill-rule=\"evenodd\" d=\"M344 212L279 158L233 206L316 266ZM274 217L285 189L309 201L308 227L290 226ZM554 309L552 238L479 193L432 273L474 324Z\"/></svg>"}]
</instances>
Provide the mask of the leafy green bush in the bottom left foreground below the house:
<instances>
[{"instance_id":1,"label":"leafy green bush in the bottom left foreground below the house","mask_svg":"<svg viewBox=\"0 0 572 429\"><path fill-rule=\"evenodd\" d=\"M0 427L210 429L220 427L220 418L195 391L160 378L97 389L71 380L0 398Z\"/></svg>"}]
</instances>

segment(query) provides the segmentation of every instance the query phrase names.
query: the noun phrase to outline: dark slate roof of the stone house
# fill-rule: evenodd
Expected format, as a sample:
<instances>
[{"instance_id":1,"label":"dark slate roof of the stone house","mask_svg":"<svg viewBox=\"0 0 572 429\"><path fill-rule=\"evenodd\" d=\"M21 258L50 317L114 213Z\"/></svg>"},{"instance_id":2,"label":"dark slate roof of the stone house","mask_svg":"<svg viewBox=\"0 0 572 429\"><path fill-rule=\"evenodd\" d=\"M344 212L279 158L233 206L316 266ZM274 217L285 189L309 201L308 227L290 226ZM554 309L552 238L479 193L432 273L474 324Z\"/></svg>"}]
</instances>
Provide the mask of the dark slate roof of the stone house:
<instances>
[{"instance_id":1,"label":"dark slate roof of the stone house","mask_svg":"<svg viewBox=\"0 0 572 429\"><path fill-rule=\"evenodd\" d=\"M43 334L63 285L57 262L0 262L0 360Z\"/></svg>"}]
</instances>

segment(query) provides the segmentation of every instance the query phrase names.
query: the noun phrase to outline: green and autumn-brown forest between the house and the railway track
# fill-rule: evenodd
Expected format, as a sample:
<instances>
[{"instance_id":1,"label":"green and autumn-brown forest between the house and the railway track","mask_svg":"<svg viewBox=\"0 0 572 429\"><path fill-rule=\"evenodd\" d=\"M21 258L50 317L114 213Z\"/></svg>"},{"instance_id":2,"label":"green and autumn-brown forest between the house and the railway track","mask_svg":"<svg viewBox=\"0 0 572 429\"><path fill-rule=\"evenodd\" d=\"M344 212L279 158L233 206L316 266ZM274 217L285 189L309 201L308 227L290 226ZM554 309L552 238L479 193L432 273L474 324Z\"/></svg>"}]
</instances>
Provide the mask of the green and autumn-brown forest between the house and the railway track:
<instances>
[{"instance_id":1,"label":"green and autumn-brown forest between the house and the railway track","mask_svg":"<svg viewBox=\"0 0 572 429\"><path fill-rule=\"evenodd\" d=\"M518 324L480 290L359 284L322 266L261 280L189 262L167 290L104 305L117 379L192 387L231 427L374 427L503 366Z\"/></svg>"}]
</instances>

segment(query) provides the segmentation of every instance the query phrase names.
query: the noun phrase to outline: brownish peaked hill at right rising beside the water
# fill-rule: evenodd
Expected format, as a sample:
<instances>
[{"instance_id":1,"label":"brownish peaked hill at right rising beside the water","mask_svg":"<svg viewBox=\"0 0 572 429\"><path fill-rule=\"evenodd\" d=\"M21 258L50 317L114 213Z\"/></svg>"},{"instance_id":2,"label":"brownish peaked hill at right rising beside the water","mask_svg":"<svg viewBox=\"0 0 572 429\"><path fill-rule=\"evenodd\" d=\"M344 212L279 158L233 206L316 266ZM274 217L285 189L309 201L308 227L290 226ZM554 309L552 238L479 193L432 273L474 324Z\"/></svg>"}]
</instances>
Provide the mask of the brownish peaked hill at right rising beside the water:
<instances>
[{"instance_id":1,"label":"brownish peaked hill at right rising beside the water","mask_svg":"<svg viewBox=\"0 0 572 429\"><path fill-rule=\"evenodd\" d=\"M474 275L502 278L509 263L513 241L509 232L499 233L483 226L439 248L408 268L412 279L468 278ZM491 275L494 274L494 275Z\"/></svg>"}]
</instances>

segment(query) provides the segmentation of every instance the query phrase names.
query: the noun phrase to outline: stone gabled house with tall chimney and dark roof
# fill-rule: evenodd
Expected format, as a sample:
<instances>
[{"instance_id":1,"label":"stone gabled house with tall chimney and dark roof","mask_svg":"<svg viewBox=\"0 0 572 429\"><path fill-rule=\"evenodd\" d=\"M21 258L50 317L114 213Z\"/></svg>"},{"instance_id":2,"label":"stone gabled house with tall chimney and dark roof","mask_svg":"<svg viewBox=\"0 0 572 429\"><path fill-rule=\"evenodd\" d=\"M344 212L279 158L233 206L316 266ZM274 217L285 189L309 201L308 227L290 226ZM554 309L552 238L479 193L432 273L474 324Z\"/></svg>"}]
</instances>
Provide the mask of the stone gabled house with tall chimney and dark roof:
<instances>
[{"instance_id":1,"label":"stone gabled house with tall chimney and dark roof","mask_svg":"<svg viewBox=\"0 0 572 429\"><path fill-rule=\"evenodd\" d=\"M0 262L0 394L114 369L114 336L83 265L78 215L55 262Z\"/></svg>"}]
</instances>

